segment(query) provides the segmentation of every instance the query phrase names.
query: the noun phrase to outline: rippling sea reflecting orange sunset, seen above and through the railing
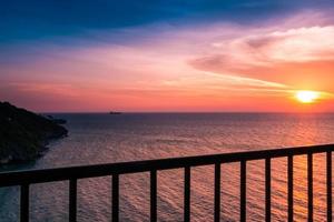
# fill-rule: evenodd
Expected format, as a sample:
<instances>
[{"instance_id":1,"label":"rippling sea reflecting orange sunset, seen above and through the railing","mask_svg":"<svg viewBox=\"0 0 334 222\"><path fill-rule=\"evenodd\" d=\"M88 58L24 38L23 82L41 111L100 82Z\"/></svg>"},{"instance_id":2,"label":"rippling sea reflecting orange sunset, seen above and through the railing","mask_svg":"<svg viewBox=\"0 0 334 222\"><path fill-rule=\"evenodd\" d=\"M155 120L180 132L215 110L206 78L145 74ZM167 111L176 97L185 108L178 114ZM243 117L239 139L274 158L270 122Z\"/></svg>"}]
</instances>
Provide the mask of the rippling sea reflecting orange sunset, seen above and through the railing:
<instances>
[{"instance_id":1,"label":"rippling sea reflecting orange sunset, seen above and through the railing","mask_svg":"<svg viewBox=\"0 0 334 222\"><path fill-rule=\"evenodd\" d=\"M57 114L69 137L12 169L46 169L334 143L334 114ZM314 155L314 220L325 221L325 155ZM287 220L286 159L273 160L272 219ZM183 170L158 172L158 220L183 221ZM78 221L111 220L110 176L78 181ZM295 220L306 221L306 157L294 161ZM264 221L264 161L247 163L247 221ZM213 221L214 167L191 169L191 221ZM19 221L19 189L0 189L0 221ZM68 182L31 185L31 221L68 220ZM121 221L149 221L149 174L120 176ZM239 163L222 165L222 221L239 220Z\"/></svg>"}]
</instances>

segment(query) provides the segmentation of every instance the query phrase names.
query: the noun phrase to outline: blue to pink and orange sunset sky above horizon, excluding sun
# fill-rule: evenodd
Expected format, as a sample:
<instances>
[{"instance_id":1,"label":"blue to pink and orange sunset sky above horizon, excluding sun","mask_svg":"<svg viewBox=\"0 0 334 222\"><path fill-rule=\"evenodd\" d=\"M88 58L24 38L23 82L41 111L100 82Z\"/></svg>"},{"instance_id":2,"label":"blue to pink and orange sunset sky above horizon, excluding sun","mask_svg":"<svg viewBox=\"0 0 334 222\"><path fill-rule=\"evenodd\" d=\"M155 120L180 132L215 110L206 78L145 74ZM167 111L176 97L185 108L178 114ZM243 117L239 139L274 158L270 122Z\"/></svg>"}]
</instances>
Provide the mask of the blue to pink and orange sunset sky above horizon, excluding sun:
<instances>
[{"instance_id":1,"label":"blue to pink and orange sunset sky above horizon, excluding sun","mask_svg":"<svg viewBox=\"0 0 334 222\"><path fill-rule=\"evenodd\" d=\"M0 1L0 101L38 112L334 112L332 0ZM301 90L317 100L297 101Z\"/></svg>"}]
</instances>

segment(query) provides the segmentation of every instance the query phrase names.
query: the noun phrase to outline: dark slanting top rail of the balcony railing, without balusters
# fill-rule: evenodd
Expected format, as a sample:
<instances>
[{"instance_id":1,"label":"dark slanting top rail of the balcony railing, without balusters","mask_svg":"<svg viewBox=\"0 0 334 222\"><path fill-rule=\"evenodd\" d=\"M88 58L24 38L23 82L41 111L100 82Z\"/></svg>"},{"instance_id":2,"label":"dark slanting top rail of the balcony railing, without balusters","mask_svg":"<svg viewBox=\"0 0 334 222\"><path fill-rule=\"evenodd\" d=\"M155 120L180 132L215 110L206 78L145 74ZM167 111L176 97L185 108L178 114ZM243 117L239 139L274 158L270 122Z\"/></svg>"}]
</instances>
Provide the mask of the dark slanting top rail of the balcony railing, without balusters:
<instances>
[{"instance_id":1,"label":"dark slanting top rail of the balcony railing, without balusters","mask_svg":"<svg viewBox=\"0 0 334 222\"><path fill-rule=\"evenodd\" d=\"M0 173L0 186L63 181L69 179L96 178L111 174L139 173L151 170L171 170L185 167L210 165L215 163L230 163L268 158L273 159L307 153L321 153L333 150L334 144L323 144L57 169L12 171Z\"/></svg>"}]
</instances>

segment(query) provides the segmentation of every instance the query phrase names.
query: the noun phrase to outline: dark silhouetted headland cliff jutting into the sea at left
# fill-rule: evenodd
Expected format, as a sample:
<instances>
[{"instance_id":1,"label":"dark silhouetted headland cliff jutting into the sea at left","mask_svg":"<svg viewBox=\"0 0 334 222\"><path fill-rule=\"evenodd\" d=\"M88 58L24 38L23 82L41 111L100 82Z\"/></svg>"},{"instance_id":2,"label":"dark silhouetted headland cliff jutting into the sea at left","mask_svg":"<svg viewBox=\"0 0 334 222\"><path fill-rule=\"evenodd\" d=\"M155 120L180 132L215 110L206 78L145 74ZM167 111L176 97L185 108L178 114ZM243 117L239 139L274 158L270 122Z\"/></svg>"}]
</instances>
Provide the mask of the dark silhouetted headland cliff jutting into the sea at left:
<instances>
[{"instance_id":1,"label":"dark silhouetted headland cliff jutting into the sea at left","mask_svg":"<svg viewBox=\"0 0 334 222\"><path fill-rule=\"evenodd\" d=\"M29 161L68 131L42 115L0 102L0 164Z\"/></svg>"}]
</instances>

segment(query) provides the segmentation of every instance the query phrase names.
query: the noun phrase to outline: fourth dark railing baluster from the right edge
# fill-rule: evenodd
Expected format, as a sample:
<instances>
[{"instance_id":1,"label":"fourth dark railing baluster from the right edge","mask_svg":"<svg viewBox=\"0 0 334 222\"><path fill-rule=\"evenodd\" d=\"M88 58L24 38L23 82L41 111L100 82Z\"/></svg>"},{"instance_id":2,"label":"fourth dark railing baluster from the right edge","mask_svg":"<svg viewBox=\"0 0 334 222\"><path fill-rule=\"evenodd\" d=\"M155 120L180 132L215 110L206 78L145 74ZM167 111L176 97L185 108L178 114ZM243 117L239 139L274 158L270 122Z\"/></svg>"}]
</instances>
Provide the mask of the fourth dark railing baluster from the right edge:
<instances>
[{"instance_id":1,"label":"fourth dark railing baluster from the right edge","mask_svg":"<svg viewBox=\"0 0 334 222\"><path fill-rule=\"evenodd\" d=\"M272 221L272 159L265 160L265 174L266 174L266 222Z\"/></svg>"}]
</instances>

